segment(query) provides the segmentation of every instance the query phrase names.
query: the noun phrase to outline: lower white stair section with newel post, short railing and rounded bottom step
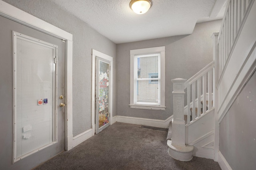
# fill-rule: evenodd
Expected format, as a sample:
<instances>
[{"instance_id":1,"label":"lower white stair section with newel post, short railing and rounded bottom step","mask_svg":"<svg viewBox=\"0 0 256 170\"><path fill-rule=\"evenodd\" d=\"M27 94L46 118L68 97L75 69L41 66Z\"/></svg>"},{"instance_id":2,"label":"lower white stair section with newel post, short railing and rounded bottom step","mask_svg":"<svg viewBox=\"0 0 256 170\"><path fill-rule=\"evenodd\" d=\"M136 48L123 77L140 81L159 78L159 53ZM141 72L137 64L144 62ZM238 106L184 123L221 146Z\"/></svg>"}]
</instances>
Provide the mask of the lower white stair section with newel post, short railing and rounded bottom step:
<instances>
[{"instance_id":1,"label":"lower white stair section with newel post, short railing and rounded bottom step","mask_svg":"<svg viewBox=\"0 0 256 170\"><path fill-rule=\"evenodd\" d=\"M214 61L189 80L176 78L172 82L174 117L168 153L182 161L191 160L193 155L213 159ZM184 103L188 104L185 110Z\"/></svg>"}]
</instances>

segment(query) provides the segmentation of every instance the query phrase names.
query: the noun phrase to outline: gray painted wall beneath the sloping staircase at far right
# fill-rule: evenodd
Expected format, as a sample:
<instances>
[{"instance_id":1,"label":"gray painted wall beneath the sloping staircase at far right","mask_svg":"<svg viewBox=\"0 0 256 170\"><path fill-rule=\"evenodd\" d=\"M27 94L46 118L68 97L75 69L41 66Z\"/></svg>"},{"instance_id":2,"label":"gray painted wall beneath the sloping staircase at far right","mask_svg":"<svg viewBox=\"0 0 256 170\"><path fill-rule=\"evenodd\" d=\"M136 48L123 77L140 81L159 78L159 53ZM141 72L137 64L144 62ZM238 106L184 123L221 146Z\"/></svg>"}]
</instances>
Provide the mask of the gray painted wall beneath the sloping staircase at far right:
<instances>
[{"instance_id":1,"label":"gray painted wall beneath the sloping staircase at far right","mask_svg":"<svg viewBox=\"0 0 256 170\"><path fill-rule=\"evenodd\" d=\"M220 123L220 151L233 170L256 167L256 72Z\"/></svg>"}]
</instances>

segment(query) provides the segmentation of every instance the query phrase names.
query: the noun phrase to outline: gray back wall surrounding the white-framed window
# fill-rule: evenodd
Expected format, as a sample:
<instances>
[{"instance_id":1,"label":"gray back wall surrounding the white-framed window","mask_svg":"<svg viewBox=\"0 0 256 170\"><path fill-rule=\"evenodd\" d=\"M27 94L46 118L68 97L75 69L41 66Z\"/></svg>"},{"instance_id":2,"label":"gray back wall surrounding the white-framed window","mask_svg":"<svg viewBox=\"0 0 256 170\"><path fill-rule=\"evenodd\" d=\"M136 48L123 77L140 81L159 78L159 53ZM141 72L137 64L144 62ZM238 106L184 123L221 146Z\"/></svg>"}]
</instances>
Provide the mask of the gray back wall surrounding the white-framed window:
<instances>
[{"instance_id":1,"label":"gray back wall surrounding the white-framed window","mask_svg":"<svg viewBox=\"0 0 256 170\"><path fill-rule=\"evenodd\" d=\"M191 35L150 39L117 45L117 115L167 119L173 114L171 79L190 78L212 61L212 33L220 30L221 20L198 23ZM165 46L165 111L131 109L130 50Z\"/></svg>"}]
</instances>

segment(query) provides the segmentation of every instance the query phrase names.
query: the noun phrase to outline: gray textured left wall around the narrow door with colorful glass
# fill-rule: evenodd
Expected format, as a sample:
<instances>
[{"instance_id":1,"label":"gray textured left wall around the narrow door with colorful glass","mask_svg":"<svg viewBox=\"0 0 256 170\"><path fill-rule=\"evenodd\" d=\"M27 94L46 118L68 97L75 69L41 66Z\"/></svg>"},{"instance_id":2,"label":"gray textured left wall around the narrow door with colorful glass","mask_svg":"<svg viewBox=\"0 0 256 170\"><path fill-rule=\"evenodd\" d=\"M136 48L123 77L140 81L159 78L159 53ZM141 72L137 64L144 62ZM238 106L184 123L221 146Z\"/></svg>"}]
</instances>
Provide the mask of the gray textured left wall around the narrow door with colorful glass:
<instances>
[{"instance_id":1,"label":"gray textured left wall around the narrow door with colorful glass","mask_svg":"<svg viewBox=\"0 0 256 170\"><path fill-rule=\"evenodd\" d=\"M113 96L116 96L116 44L50 1L4 1L73 34L73 136L90 129L92 49L113 57ZM113 98L115 114L116 98Z\"/></svg>"}]
</instances>

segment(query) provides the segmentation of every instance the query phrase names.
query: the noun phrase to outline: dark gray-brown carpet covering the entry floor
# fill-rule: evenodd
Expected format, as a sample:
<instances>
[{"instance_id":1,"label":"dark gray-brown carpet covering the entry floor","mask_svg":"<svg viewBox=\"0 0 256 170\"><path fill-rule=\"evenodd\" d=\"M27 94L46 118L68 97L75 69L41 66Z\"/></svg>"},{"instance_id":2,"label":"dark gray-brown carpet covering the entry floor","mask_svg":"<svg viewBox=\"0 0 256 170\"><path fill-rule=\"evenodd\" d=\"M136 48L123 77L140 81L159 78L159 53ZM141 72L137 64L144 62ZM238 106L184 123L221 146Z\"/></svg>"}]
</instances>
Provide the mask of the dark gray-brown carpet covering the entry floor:
<instances>
[{"instance_id":1,"label":"dark gray-brown carpet covering the entry floor","mask_svg":"<svg viewBox=\"0 0 256 170\"><path fill-rule=\"evenodd\" d=\"M171 158L166 131L116 122L35 170L221 170L211 159L188 162Z\"/></svg>"}]
</instances>

